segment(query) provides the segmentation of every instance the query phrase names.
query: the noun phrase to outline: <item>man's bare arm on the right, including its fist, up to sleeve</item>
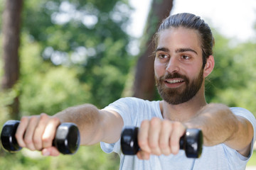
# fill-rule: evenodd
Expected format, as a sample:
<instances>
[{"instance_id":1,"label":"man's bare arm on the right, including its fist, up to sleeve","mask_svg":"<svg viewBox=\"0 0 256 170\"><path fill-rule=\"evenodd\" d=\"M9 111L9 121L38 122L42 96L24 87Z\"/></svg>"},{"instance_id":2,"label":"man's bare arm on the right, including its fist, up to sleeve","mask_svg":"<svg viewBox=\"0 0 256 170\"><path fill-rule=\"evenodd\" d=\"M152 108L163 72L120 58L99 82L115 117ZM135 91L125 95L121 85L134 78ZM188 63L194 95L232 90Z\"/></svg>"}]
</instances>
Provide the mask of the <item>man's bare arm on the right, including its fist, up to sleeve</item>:
<instances>
[{"instance_id":1,"label":"man's bare arm on the right, including its fist, up to sleeve","mask_svg":"<svg viewBox=\"0 0 256 170\"><path fill-rule=\"evenodd\" d=\"M234 115L223 104L208 104L186 122L174 122L152 118L144 120L139 129L139 159L149 159L150 154L177 154L179 139L186 128L203 131L203 145L214 146L224 143L248 156L253 137L253 128L248 120Z\"/></svg>"}]
</instances>

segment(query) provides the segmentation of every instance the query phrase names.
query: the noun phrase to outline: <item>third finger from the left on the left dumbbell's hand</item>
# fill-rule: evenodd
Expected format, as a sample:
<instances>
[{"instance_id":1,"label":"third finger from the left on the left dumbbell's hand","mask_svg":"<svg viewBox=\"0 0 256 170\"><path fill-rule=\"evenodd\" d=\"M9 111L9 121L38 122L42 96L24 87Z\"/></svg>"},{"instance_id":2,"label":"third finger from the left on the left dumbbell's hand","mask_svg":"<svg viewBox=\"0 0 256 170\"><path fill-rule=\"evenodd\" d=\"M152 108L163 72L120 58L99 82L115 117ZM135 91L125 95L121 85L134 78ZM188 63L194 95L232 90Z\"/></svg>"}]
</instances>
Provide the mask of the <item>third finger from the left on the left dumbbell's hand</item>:
<instances>
[{"instance_id":1,"label":"third finger from the left on the left dumbbell's hand","mask_svg":"<svg viewBox=\"0 0 256 170\"><path fill-rule=\"evenodd\" d=\"M49 116L46 115L46 113L42 113L40 115L40 120L38 122L38 126L36 127L36 130L33 135L33 143L37 150L43 149L42 136L43 136L43 132L46 128L46 125L48 123L48 120L49 120Z\"/></svg>"}]
</instances>

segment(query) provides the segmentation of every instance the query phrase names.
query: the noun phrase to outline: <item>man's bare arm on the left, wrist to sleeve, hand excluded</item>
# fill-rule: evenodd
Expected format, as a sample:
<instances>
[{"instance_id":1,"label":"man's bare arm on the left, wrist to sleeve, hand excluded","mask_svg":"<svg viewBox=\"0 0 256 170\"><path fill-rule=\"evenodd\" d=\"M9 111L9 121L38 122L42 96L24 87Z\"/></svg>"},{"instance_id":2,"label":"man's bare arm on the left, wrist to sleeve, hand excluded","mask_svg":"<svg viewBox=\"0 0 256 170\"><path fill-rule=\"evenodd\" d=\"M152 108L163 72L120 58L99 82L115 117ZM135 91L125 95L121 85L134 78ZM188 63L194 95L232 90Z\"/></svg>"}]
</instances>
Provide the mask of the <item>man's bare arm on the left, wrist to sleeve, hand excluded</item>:
<instances>
[{"instance_id":1,"label":"man's bare arm on the left, wrist to sleeve, hand excluded","mask_svg":"<svg viewBox=\"0 0 256 170\"><path fill-rule=\"evenodd\" d=\"M93 145L97 142L113 143L119 140L123 120L114 111L99 110L91 104L65 109L54 115L60 122L72 122L78 125L81 145Z\"/></svg>"}]
</instances>

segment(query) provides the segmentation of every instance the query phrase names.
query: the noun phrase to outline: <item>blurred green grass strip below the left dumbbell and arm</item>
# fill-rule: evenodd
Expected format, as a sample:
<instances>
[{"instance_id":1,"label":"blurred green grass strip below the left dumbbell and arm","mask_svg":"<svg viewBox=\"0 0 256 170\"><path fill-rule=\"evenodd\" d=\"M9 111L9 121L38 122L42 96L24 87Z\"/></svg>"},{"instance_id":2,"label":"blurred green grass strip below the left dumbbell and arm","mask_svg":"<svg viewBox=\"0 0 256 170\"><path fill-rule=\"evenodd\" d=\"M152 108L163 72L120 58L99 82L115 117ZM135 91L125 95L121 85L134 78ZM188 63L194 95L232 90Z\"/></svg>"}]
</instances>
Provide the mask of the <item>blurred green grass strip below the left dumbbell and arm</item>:
<instances>
[{"instance_id":1,"label":"blurred green grass strip below the left dumbbell and arm","mask_svg":"<svg viewBox=\"0 0 256 170\"><path fill-rule=\"evenodd\" d=\"M40 152L22 149L15 154L2 152L0 166L10 170L114 170L119 168L119 157L102 152L99 145L80 147L73 155L58 157L43 157Z\"/></svg>"}]
</instances>

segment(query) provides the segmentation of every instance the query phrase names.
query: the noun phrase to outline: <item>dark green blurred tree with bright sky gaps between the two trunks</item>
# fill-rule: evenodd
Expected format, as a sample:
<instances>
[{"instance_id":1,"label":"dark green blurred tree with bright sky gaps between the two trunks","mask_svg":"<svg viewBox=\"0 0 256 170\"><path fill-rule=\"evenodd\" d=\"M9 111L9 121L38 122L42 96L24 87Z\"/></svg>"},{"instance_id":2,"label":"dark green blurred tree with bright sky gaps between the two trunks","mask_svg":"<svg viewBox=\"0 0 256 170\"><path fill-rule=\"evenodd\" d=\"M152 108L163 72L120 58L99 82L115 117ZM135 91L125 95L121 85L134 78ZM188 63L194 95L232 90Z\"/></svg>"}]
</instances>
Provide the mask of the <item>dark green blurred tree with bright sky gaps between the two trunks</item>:
<instances>
[{"instance_id":1,"label":"dark green blurred tree with bright sky gaps between the two trunks","mask_svg":"<svg viewBox=\"0 0 256 170\"><path fill-rule=\"evenodd\" d=\"M28 0L23 32L39 43L45 62L77 69L90 103L101 108L121 96L133 60L126 32L131 10L128 0Z\"/></svg>"}]
</instances>

